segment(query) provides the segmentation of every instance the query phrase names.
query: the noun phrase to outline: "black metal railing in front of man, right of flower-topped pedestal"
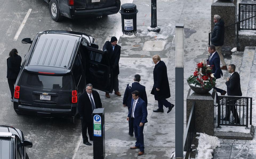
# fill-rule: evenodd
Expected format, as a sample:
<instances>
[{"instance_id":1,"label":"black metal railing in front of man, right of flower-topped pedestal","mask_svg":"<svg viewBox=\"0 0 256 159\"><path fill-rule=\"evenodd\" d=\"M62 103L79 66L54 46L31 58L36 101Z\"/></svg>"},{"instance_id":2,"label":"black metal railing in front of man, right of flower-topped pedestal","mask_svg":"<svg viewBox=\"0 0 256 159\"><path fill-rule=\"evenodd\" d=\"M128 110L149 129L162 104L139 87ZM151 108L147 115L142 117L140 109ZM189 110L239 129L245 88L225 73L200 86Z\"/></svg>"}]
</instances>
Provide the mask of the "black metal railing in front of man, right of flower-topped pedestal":
<instances>
[{"instance_id":1,"label":"black metal railing in front of man, right of flower-topped pedestal","mask_svg":"<svg viewBox=\"0 0 256 159\"><path fill-rule=\"evenodd\" d=\"M241 126L248 128L249 105L250 125L252 121L252 97L218 96L218 126ZM232 113L232 115L231 115Z\"/></svg>"}]
</instances>

